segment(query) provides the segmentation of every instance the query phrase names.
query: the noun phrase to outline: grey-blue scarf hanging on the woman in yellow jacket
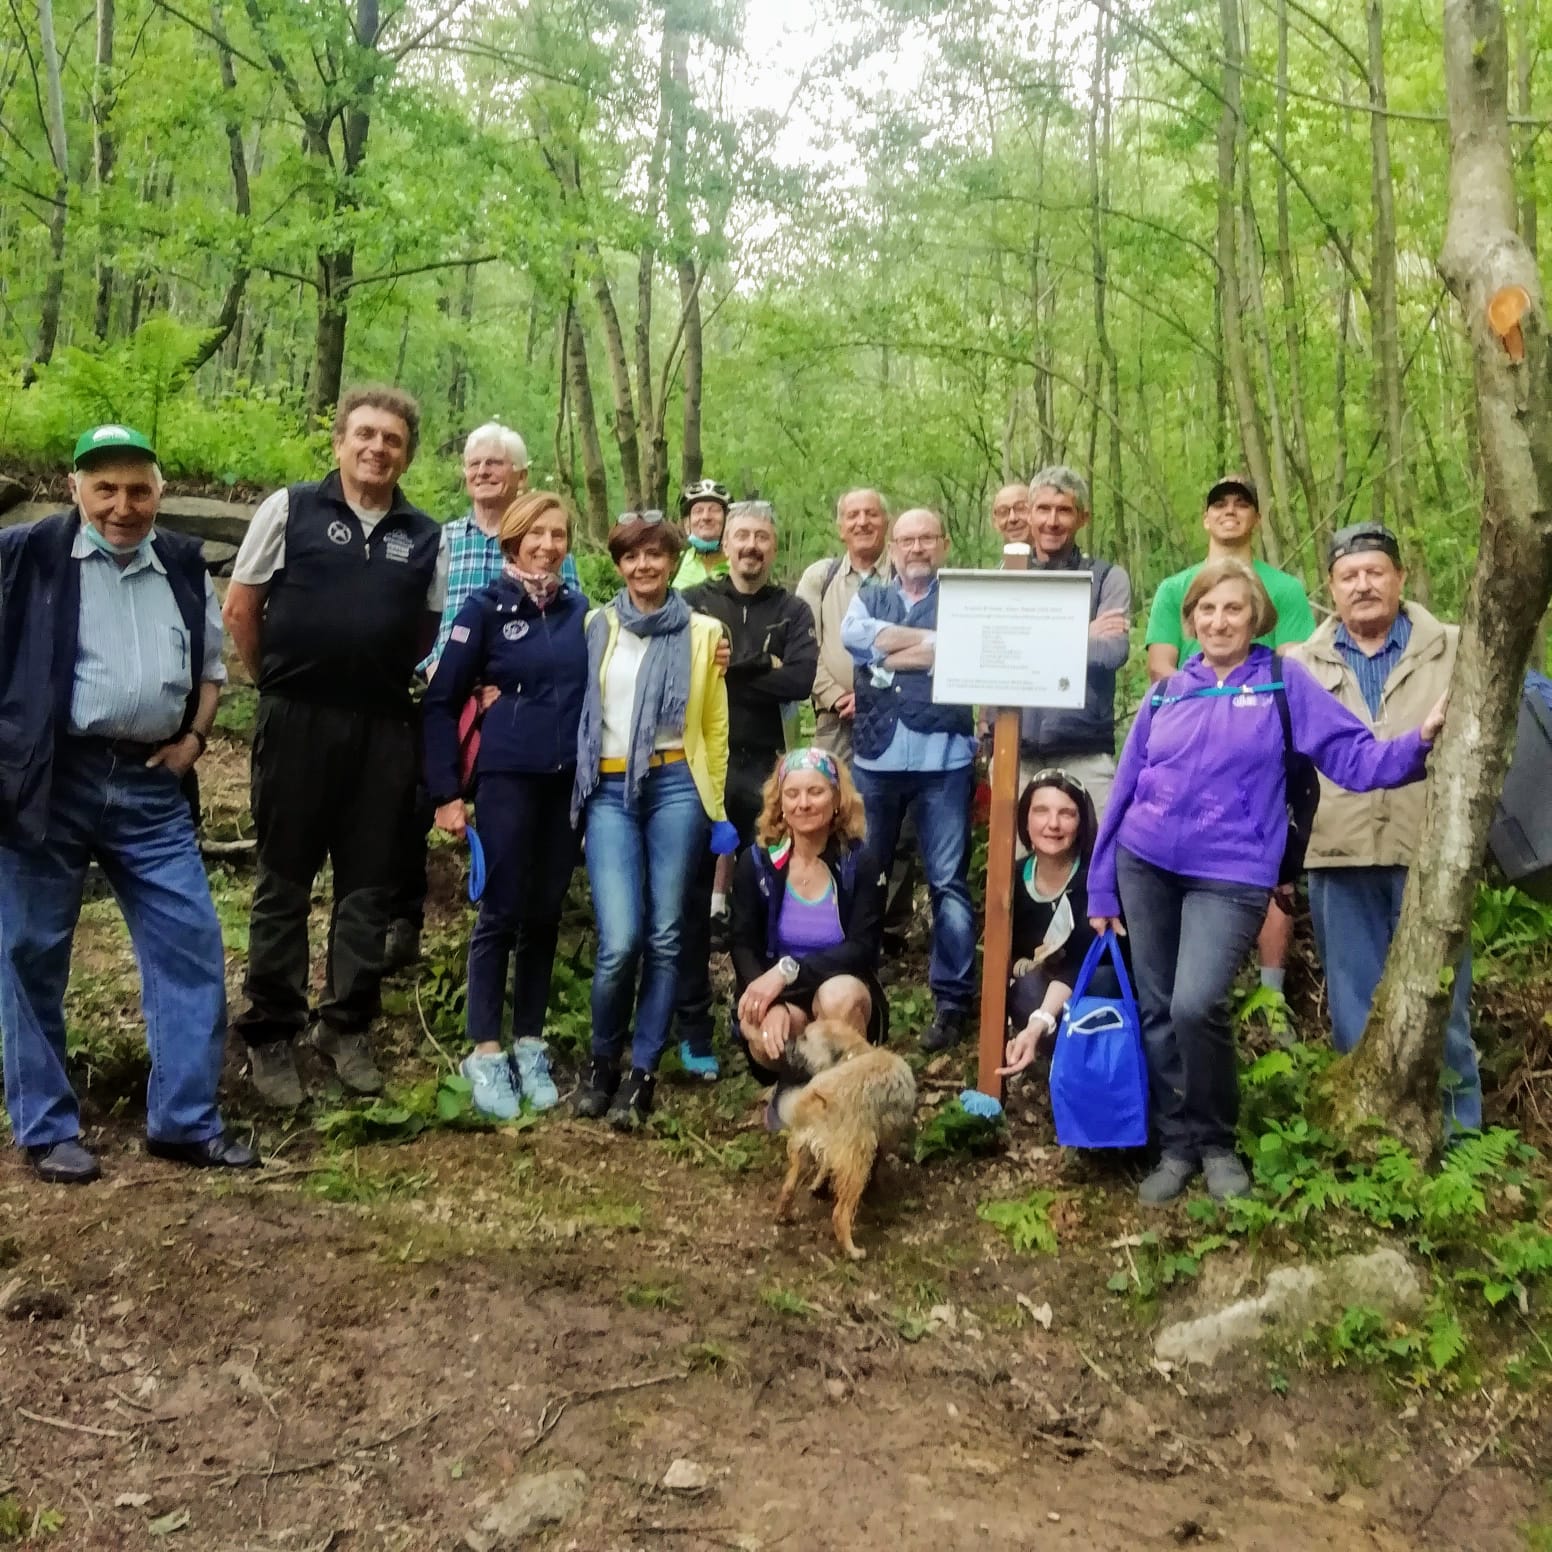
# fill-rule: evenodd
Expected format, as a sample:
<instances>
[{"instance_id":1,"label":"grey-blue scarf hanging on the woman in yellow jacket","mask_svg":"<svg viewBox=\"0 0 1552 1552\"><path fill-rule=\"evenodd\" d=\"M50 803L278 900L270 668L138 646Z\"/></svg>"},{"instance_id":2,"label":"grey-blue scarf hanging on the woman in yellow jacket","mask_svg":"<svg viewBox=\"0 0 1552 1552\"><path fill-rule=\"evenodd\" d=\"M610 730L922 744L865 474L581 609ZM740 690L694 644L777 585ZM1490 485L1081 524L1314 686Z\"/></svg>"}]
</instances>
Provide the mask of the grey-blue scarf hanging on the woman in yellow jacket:
<instances>
[{"instance_id":1,"label":"grey-blue scarf hanging on the woman in yellow jacket","mask_svg":"<svg viewBox=\"0 0 1552 1552\"><path fill-rule=\"evenodd\" d=\"M689 604L678 593L650 615L644 615L619 593L601 608L587 627L587 700L577 726L577 779L571 788L571 823L598 787L598 767L604 757L604 653L608 649L605 610L619 618L619 629L650 638L647 655L636 675L636 698L630 709L630 750L625 756L625 807L635 809L641 784L647 779L652 748L660 731L683 733L689 712Z\"/></svg>"}]
</instances>

